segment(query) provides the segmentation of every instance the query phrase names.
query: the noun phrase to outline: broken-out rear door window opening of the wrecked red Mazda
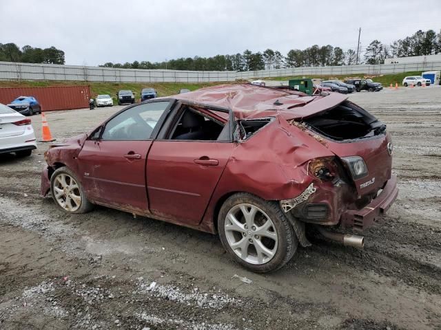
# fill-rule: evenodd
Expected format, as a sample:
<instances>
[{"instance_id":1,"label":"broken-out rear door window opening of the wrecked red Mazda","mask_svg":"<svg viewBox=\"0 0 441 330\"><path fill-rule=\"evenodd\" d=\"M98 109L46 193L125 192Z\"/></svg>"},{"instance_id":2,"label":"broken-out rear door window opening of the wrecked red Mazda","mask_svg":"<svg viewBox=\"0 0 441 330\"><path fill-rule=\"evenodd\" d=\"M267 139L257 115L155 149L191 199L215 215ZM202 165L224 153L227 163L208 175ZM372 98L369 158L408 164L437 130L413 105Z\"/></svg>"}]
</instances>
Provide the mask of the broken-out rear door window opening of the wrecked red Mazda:
<instances>
[{"instance_id":1,"label":"broken-out rear door window opening of the wrecked red Mazda","mask_svg":"<svg viewBox=\"0 0 441 330\"><path fill-rule=\"evenodd\" d=\"M228 113L212 110L207 112L213 113L213 116L184 105L169 139L230 141L229 125L227 124Z\"/></svg>"}]
</instances>

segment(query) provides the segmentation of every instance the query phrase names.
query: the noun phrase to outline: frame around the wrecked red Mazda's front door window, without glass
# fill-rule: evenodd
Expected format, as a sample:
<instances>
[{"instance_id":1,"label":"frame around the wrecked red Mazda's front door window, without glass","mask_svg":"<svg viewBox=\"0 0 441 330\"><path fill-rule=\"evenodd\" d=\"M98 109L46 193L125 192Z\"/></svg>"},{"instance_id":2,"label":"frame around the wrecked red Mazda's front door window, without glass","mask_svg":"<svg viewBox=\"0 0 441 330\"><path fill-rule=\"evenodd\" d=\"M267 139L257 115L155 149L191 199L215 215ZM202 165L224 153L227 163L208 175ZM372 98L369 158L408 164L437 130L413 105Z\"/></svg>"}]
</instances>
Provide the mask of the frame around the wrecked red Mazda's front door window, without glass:
<instances>
[{"instance_id":1,"label":"frame around the wrecked red Mazda's front door window, without glass","mask_svg":"<svg viewBox=\"0 0 441 330\"><path fill-rule=\"evenodd\" d=\"M150 135L149 139L146 139L146 140L103 140L102 137L103 137L103 133L105 130L105 126L107 126L107 124L110 122L110 120L114 119L116 116L118 116L121 113L123 113L127 110L130 110L134 107L139 107L142 104L150 104L150 103L156 103L156 102L169 102L169 104L168 104L167 108L165 108L161 117L159 118L158 123L154 126L154 129L153 129L152 134ZM103 122L103 124L96 127L96 129L94 129L94 131L92 131L92 133L90 133L88 140L92 140L92 141L152 141L152 140L156 140L156 137L158 136L159 131L161 131L161 126L165 122L165 118L167 118L168 114L170 113L170 110L174 107L175 103L176 103L176 99L174 99L174 98L154 98L151 100L143 101L141 103L131 104L130 106L125 107L124 109L121 109L120 111L114 113L114 115L112 115L110 118L107 118L107 120L105 120L105 122ZM94 137L94 135L98 131L99 131L98 137L92 138L92 137Z\"/></svg>"}]
</instances>

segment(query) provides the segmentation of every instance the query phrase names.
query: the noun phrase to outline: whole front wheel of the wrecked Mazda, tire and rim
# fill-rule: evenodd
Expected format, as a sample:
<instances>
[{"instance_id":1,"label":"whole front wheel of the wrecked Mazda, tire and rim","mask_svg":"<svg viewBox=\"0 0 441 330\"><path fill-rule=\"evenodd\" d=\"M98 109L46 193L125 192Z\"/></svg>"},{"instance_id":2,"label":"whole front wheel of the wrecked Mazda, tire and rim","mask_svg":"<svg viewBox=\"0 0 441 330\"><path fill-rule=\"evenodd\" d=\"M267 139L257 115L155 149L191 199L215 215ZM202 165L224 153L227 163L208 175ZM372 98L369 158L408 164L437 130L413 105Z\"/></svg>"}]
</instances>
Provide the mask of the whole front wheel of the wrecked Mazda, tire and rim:
<instances>
[{"instance_id":1,"label":"whole front wheel of the wrecked Mazda, tire and rim","mask_svg":"<svg viewBox=\"0 0 441 330\"><path fill-rule=\"evenodd\" d=\"M55 203L64 212L85 213L94 208L94 205L86 197L78 177L66 166L57 168L52 173L50 191Z\"/></svg>"}]
</instances>

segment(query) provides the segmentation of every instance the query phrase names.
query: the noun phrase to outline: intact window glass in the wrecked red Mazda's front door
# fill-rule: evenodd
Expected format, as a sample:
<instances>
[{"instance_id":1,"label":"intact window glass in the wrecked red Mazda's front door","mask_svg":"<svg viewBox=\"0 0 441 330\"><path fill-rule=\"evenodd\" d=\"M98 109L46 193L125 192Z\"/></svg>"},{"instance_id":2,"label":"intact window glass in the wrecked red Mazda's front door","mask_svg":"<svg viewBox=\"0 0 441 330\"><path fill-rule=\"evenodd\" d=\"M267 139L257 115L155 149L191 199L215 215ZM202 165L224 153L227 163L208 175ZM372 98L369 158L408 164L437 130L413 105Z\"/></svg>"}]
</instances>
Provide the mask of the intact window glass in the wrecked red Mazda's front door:
<instances>
[{"instance_id":1,"label":"intact window glass in the wrecked red Mazda's front door","mask_svg":"<svg viewBox=\"0 0 441 330\"><path fill-rule=\"evenodd\" d=\"M170 102L137 105L116 115L105 124L101 140L143 141L152 138L153 129Z\"/></svg>"}]
</instances>

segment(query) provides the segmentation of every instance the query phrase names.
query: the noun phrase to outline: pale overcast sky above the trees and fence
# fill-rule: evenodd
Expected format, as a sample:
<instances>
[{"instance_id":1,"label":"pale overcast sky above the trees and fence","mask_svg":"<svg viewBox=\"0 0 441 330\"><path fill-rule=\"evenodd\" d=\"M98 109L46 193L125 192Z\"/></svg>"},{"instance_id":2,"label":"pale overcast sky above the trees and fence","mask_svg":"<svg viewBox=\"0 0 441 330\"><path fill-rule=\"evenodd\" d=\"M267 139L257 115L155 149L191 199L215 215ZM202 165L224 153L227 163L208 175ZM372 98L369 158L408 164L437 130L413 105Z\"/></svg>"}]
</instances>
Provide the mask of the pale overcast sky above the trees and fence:
<instances>
[{"instance_id":1,"label":"pale overcast sky above the trees and fence","mask_svg":"<svg viewBox=\"0 0 441 330\"><path fill-rule=\"evenodd\" d=\"M66 64L165 61L311 45L356 49L441 28L440 0L0 0L0 43L55 47Z\"/></svg>"}]
</instances>

